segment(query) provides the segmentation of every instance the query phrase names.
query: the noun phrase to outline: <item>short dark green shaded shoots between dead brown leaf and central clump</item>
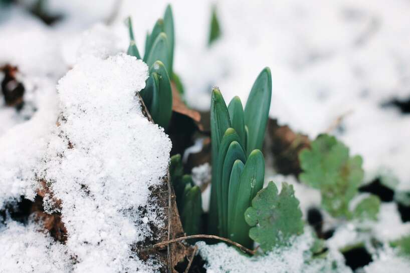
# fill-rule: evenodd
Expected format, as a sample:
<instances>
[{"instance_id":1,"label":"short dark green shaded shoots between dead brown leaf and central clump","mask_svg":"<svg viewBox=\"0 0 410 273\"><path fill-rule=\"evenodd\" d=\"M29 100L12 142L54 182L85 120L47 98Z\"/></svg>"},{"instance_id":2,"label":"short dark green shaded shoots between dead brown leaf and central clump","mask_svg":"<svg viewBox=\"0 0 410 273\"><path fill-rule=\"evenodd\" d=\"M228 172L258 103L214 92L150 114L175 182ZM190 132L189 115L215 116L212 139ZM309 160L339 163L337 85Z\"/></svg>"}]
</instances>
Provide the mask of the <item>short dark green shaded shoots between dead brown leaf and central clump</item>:
<instances>
[{"instance_id":1,"label":"short dark green shaded shoots between dead brown leaf and central clump","mask_svg":"<svg viewBox=\"0 0 410 273\"><path fill-rule=\"evenodd\" d=\"M179 154L171 157L169 174L183 229L187 235L199 234L202 214L201 192L199 187L194 185L192 177L183 174Z\"/></svg>"}]
</instances>

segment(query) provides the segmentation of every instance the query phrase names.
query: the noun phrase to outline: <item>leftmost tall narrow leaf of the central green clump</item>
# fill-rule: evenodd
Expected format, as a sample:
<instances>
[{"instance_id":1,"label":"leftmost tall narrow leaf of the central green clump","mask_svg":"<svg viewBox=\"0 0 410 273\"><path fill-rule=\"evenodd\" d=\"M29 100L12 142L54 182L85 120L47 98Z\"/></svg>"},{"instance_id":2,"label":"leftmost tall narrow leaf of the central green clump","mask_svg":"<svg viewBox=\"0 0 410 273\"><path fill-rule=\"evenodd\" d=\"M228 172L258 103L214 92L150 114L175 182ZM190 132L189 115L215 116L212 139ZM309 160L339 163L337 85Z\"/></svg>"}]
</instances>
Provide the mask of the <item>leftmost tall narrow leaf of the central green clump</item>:
<instances>
[{"instance_id":1,"label":"leftmost tall narrow leaf of the central green clump","mask_svg":"<svg viewBox=\"0 0 410 273\"><path fill-rule=\"evenodd\" d=\"M208 232L210 234L218 234L219 216L218 216L218 198L217 187L217 167L218 153L221 140L225 131L231 127L229 119L229 112L225 103L224 97L218 88L212 90L211 96L211 145L212 145L212 187L211 187L211 201L210 201L210 219L208 225Z\"/></svg>"}]
</instances>

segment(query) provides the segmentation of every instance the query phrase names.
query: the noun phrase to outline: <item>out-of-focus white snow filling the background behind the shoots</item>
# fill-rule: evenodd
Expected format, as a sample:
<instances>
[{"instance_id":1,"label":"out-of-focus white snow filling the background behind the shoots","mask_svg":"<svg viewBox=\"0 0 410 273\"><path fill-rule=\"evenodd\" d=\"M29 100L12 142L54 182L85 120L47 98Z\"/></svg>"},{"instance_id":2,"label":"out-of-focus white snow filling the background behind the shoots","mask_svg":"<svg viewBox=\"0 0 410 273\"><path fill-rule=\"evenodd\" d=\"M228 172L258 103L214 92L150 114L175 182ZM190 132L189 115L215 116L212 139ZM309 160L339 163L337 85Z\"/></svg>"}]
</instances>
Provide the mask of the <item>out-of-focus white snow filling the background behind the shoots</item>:
<instances>
[{"instance_id":1,"label":"out-of-focus white snow filling the background behind the shoots","mask_svg":"<svg viewBox=\"0 0 410 273\"><path fill-rule=\"evenodd\" d=\"M55 85L92 46L84 36L126 51L131 16L143 52L147 31L170 3L174 70L190 107L208 110L213 86L226 101L245 101L268 66L277 124L310 138L336 135L362 155L366 181L410 191L408 0L0 2L0 80L17 73L27 102L19 111L1 102L0 139L35 113L57 116ZM220 35L210 43L212 18Z\"/></svg>"}]
</instances>

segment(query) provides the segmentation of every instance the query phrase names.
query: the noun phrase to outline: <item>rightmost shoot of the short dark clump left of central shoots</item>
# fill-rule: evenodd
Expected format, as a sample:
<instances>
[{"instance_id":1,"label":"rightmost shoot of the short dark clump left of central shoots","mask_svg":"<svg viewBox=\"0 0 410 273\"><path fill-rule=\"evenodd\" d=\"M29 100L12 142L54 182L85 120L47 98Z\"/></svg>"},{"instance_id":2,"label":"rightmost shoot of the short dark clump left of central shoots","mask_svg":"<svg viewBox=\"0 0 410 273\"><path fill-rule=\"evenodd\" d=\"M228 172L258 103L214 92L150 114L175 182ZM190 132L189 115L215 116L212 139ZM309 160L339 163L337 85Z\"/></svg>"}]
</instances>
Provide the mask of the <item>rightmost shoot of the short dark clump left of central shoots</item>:
<instances>
[{"instance_id":1,"label":"rightmost shoot of the short dark clump left of central shoots","mask_svg":"<svg viewBox=\"0 0 410 273\"><path fill-rule=\"evenodd\" d=\"M200 233L202 201L198 186L186 184L182 197L180 218L186 235Z\"/></svg>"}]
</instances>

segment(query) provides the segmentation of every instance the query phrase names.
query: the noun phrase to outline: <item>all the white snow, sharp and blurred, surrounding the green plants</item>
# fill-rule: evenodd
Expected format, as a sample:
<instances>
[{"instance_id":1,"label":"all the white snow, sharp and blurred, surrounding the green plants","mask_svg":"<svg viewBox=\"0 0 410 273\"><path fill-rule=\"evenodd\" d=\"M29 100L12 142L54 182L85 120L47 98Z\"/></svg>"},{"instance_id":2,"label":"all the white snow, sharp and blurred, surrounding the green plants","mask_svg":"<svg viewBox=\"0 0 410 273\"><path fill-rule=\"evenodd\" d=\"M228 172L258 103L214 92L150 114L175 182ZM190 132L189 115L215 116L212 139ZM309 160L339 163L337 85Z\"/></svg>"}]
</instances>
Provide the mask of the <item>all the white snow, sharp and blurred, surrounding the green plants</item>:
<instances>
[{"instance_id":1,"label":"all the white snow, sharp and blurred, surrounding the green plants","mask_svg":"<svg viewBox=\"0 0 410 273\"><path fill-rule=\"evenodd\" d=\"M21 8L0 10L0 37L7 41L0 43L0 66L18 66L19 80L26 87L21 112L6 107L3 100L0 103L0 209L22 196L33 199L37 179L42 177L53 190L46 205L52 209L52 197L62 201L60 212L68 229L63 245L44 234L39 223L6 221L0 226L0 245L7 249L0 256L0 272L156 270L153 264L157 263L139 260L131 245L154 236L152 224L162 224L160 211L147 207L152 201L148 187L158 185L165 174L170 142L161 128L142 116L133 96L144 86L146 66L118 53L128 46L124 19L132 16L136 43L143 52L146 31L151 31L169 1L120 2L118 15L112 18L115 0L98 5L96 1L47 1L47 11L63 15L50 28ZM223 34L208 47L213 3ZM174 70L191 107L208 110L214 85L227 102L236 95L245 102L256 76L269 66L272 118L314 138L344 116L331 133L350 147L351 154L363 156L365 181L381 176L397 191L410 191L406 165L410 116L382 107L390 99L410 98L408 1L171 4ZM101 24L110 18L114 19L110 26ZM57 96L57 79L71 67L59 83ZM203 182L207 168L192 170L195 183ZM308 208L320 204L320 193L292 176L269 175L269 180L294 185L304 217ZM209 192L210 187L202 193L204 210ZM148 208L145 214L136 212L141 207ZM386 243L410 232L410 224L401 221L394 203L381 204L378 220L366 227L365 236L360 232L363 226L356 223L346 224L327 214L324 221L325 226L337 226L327 243L329 260L304 263L303 252L312 242L306 232L291 248L266 257L248 259L225 244L203 243L198 244L200 255L214 273L270 272L272 268L280 272L285 267L290 272L317 272L323 266L328 271L333 259L343 264L337 249L347 244L364 241L368 248L370 238ZM407 272L410 267L394 252L370 252L374 261L365 272L391 268ZM339 269L351 272L344 266Z\"/></svg>"}]
</instances>

